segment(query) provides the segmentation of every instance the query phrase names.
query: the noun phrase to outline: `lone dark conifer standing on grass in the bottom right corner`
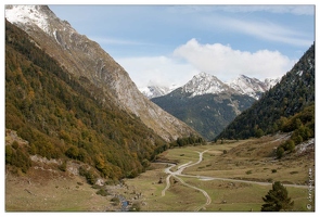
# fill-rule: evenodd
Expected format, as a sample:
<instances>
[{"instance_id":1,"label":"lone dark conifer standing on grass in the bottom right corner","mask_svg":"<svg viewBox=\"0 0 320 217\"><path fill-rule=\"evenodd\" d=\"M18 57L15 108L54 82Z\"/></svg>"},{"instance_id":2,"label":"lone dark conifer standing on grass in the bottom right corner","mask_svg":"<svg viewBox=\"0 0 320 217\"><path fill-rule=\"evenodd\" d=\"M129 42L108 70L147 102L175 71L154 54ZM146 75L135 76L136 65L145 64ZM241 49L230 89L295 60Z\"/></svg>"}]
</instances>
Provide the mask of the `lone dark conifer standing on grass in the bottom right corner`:
<instances>
[{"instance_id":1,"label":"lone dark conifer standing on grass in the bottom right corner","mask_svg":"<svg viewBox=\"0 0 320 217\"><path fill-rule=\"evenodd\" d=\"M290 210L294 204L287 196L286 188L280 181L272 184L272 190L263 200L266 202L261 207L264 212Z\"/></svg>"}]
</instances>

